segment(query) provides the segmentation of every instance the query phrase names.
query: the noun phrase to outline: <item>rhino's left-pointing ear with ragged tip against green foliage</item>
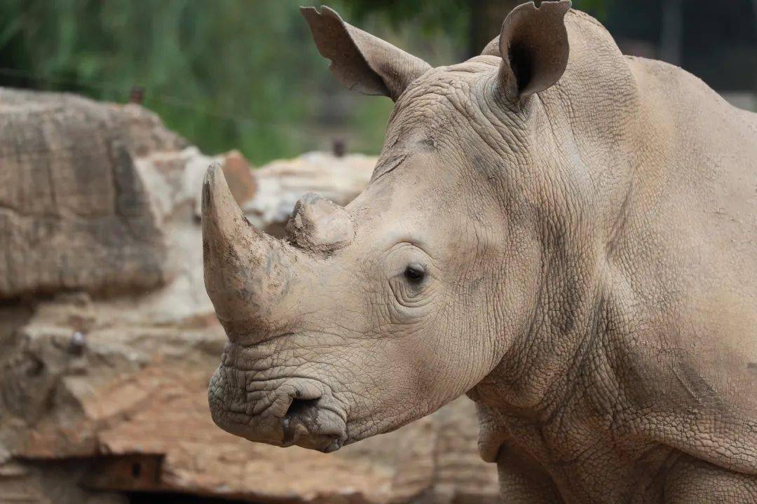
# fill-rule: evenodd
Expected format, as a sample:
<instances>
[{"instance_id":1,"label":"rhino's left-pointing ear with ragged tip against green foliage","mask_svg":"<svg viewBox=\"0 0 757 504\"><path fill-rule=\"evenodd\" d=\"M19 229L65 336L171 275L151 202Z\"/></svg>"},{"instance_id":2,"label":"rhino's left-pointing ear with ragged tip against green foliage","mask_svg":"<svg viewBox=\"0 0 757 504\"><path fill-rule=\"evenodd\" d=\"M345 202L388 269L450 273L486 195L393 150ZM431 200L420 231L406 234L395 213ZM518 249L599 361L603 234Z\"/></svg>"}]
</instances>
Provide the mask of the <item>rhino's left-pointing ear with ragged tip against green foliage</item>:
<instances>
[{"instance_id":1,"label":"rhino's left-pointing ear with ragged tip against green foliage","mask_svg":"<svg viewBox=\"0 0 757 504\"><path fill-rule=\"evenodd\" d=\"M431 66L388 42L350 26L332 9L302 7L313 39L329 70L348 89L397 100L407 85Z\"/></svg>"}]
</instances>

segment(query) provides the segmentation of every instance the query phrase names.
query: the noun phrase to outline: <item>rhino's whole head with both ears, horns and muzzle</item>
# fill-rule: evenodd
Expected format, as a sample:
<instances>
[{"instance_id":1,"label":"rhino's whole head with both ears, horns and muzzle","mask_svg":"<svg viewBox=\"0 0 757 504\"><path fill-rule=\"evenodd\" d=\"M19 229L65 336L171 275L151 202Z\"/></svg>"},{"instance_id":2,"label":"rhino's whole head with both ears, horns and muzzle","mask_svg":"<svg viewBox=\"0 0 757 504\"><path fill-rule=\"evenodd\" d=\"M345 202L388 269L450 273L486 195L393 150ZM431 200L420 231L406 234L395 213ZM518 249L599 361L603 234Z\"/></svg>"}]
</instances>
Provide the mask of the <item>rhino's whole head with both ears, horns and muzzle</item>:
<instances>
[{"instance_id":1,"label":"rhino's whole head with both ears, horns and muzzle","mask_svg":"<svg viewBox=\"0 0 757 504\"><path fill-rule=\"evenodd\" d=\"M366 190L345 208L304 196L283 240L209 169L205 284L229 337L209 389L220 427L331 452L437 410L512 358L549 274L550 191L569 190L553 183L538 97L568 63L569 8L521 5L484 54L439 68L329 8L302 9L335 76L395 107Z\"/></svg>"}]
</instances>

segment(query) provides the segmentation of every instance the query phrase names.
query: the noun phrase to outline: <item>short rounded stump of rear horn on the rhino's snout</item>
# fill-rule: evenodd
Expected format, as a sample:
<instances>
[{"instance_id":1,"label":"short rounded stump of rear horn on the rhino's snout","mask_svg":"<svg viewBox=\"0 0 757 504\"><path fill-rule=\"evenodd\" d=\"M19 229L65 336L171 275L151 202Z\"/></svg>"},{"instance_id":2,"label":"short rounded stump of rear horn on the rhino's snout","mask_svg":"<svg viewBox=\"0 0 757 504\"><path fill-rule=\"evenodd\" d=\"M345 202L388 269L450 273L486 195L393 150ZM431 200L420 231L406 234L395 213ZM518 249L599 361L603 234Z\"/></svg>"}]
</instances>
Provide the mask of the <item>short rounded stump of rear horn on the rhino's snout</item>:
<instances>
[{"instance_id":1,"label":"short rounded stump of rear horn on the rhino's snout","mask_svg":"<svg viewBox=\"0 0 757 504\"><path fill-rule=\"evenodd\" d=\"M314 193L300 198L286 227L291 243L312 252L334 252L349 245L354 234L347 210Z\"/></svg>"}]
</instances>

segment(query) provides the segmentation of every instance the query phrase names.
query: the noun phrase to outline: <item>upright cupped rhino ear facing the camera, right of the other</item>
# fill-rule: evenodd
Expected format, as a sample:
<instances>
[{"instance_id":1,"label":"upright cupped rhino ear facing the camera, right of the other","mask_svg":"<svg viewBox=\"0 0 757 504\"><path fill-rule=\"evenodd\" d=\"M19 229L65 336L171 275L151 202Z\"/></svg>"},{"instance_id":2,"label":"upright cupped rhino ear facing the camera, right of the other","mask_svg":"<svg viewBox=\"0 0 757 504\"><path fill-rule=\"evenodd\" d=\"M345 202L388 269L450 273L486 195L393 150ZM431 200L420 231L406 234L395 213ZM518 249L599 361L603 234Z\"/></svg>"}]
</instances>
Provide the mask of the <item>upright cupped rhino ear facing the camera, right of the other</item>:
<instances>
[{"instance_id":1,"label":"upright cupped rhino ear facing the camera, right of the other","mask_svg":"<svg viewBox=\"0 0 757 504\"><path fill-rule=\"evenodd\" d=\"M562 77L570 53L565 29L565 13L570 7L570 0L541 2L540 7L528 2L507 15L498 45L500 82L511 100L544 91ZM484 52L494 53L491 45Z\"/></svg>"}]
</instances>

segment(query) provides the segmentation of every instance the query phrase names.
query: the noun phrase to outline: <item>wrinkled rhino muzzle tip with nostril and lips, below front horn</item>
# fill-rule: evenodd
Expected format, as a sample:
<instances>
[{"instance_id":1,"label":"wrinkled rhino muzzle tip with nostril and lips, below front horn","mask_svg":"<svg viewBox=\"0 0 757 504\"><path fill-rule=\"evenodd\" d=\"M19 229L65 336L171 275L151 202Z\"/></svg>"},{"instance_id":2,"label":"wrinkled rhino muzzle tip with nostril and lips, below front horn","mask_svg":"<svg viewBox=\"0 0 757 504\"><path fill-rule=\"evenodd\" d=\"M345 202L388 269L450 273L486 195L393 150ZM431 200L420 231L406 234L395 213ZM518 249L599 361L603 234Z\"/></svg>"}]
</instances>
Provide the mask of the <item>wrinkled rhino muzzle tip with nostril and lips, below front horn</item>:
<instances>
[{"instance_id":1,"label":"wrinkled rhino muzzle tip with nostril and lips, below front horn","mask_svg":"<svg viewBox=\"0 0 757 504\"><path fill-rule=\"evenodd\" d=\"M241 366L244 350L227 345L208 386L213 422L249 441L279 447L297 445L330 453L347 441L347 414L332 389L303 373L261 377Z\"/></svg>"}]
</instances>

